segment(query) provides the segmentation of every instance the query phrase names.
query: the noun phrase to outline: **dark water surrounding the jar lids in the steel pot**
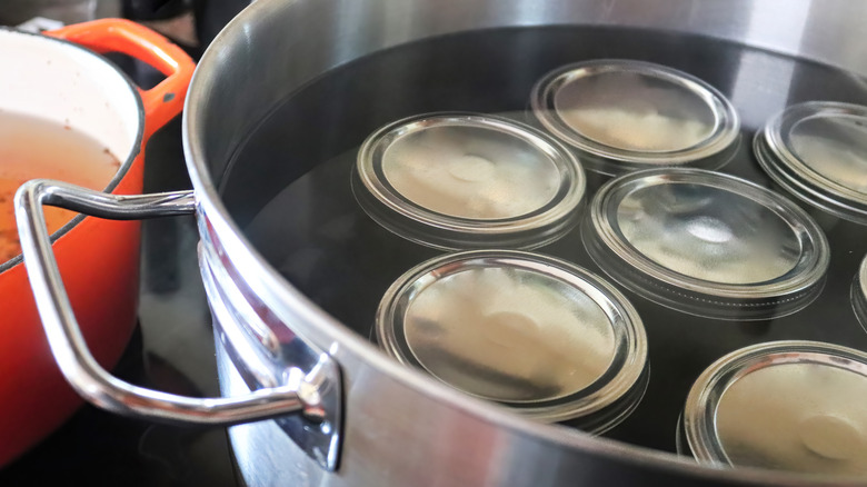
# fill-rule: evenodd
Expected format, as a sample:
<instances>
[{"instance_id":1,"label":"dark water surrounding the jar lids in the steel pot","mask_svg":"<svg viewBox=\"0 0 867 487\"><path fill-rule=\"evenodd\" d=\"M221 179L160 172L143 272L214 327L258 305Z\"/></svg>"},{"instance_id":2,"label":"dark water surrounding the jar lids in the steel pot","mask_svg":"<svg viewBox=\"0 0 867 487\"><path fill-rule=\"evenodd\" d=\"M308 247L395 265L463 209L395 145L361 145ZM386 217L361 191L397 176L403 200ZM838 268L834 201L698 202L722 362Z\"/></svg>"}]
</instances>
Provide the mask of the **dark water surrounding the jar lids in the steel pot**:
<instances>
[{"instance_id":1,"label":"dark water surrounding the jar lids in the steel pot","mask_svg":"<svg viewBox=\"0 0 867 487\"><path fill-rule=\"evenodd\" d=\"M222 178L225 201L275 268L337 319L370 337L389 285L440 252L390 233L358 207L350 188L358 146L388 122L431 111L531 121L526 109L537 79L561 64L606 58L669 66L719 89L737 108L743 131L737 155L721 171L768 188L774 186L749 141L771 116L807 100L867 105L867 83L851 73L700 37L607 28L455 34L335 69L276 107L238 148ZM605 178L588 177L590 198ZM825 228L831 262L823 295L793 316L760 322L704 319L621 289L647 328L650 381L636 411L609 436L674 451L677 417L690 386L707 366L737 348L811 339L867 349L867 334L849 302L851 279L867 252L867 228L808 211ZM604 276L577 229L538 251Z\"/></svg>"}]
</instances>

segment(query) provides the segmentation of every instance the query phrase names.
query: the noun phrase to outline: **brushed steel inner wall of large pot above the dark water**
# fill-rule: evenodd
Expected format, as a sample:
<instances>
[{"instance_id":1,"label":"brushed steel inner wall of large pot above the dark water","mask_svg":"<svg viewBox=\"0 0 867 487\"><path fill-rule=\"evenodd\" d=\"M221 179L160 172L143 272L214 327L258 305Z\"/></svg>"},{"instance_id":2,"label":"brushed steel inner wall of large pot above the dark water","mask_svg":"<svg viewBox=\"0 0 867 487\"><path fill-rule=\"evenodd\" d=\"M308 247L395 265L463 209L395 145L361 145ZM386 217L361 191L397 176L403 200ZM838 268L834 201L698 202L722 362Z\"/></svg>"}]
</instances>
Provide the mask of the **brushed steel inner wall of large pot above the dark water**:
<instances>
[{"instance_id":1,"label":"brushed steel inner wall of large pot above the dark water","mask_svg":"<svg viewBox=\"0 0 867 487\"><path fill-rule=\"evenodd\" d=\"M199 70L188 106L188 118L197 120L190 129L200 139L200 160L192 163L219 183L249 132L299 88L340 64L429 37L502 27L635 27L733 40L865 74L867 59L851 41L867 38L858 21L865 14L867 4L848 0L255 3L202 59L207 69Z\"/></svg>"}]
</instances>

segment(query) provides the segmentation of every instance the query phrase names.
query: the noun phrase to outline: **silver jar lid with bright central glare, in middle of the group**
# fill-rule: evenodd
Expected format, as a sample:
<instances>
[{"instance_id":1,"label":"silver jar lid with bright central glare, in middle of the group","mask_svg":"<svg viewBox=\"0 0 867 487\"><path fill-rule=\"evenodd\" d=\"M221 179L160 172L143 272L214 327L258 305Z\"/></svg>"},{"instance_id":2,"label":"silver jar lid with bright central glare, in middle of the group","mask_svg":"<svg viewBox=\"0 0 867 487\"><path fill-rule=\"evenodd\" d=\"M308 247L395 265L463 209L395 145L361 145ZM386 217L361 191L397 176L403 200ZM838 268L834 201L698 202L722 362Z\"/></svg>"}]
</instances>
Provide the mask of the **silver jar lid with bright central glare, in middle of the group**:
<instances>
[{"instance_id":1,"label":"silver jar lid with bright central glare, in middle of the group","mask_svg":"<svg viewBox=\"0 0 867 487\"><path fill-rule=\"evenodd\" d=\"M799 207L701 169L621 176L594 197L581 229L590 257L634 292L688 314L766 319L821 291L825 233Z\"/></svg>"}]
</instances>

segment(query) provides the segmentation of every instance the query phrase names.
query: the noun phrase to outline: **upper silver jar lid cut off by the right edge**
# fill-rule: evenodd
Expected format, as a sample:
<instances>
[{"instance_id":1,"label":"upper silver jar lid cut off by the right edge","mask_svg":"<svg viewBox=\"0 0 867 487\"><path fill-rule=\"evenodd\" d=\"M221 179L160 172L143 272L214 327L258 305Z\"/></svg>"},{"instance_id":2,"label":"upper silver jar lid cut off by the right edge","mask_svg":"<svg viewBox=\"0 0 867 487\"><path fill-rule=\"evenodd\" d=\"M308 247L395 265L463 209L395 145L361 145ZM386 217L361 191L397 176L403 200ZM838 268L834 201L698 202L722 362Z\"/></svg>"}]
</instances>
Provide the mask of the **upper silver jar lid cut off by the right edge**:
<instances>
[{"instance_id":1,"label":"upper silver jar lid cut off by the right edge","mask_svg":"<svg viewBox=\"0 0 867 487\"><path fill-rule=\"evenodd\" d=\"M754 149L765 172L795 197L867 225L867 107L794 105L756 133Z\"/></svg>"}]
</instances>

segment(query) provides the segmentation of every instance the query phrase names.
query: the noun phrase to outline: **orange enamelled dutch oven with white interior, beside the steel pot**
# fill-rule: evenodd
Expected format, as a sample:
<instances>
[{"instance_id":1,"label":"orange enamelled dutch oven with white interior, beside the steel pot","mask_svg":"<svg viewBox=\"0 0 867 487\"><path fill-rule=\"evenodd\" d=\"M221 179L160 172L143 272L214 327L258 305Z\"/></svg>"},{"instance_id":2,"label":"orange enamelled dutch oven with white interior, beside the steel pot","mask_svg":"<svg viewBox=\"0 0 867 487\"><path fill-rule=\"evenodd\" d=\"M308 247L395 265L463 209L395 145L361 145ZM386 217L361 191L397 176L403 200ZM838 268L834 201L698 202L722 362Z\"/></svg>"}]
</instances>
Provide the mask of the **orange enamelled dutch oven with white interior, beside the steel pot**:
<instances>
[{"instance_id":1,"label":"orange enamelled dutch oven with white interior, beside the steel pot","mask_svg":"<svg viewBox=\"0 0 867 487\"><path fill-rule=\"evenodd\" d=\"M133 85L97 53L121 52L166 79ZM195 69L162 36L107 19L44 34L0 29L0 110L66 123L121 162L104 190L140 193L149 137L180 113ZM2 163L2 161L0 161ZM97 360L113 366L136 326L139 284L136 221L72 219L52 236L60 272L74 289L82 332ZM0 262L0 466L62 424L81 404L48 348L21 256Z\"/></svg>"}]
</instances>

